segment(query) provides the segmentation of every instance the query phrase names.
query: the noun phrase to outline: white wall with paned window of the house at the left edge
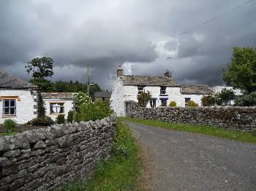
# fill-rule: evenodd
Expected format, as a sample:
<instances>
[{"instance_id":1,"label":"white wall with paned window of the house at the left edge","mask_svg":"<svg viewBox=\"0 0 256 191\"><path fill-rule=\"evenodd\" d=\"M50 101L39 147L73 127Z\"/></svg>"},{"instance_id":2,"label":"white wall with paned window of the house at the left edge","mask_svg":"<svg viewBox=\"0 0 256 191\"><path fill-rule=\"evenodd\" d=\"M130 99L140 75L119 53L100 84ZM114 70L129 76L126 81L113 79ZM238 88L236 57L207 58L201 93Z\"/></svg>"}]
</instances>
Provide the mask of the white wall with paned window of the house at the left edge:
<instances>
[{"instance_id":1,"label":"white wall with paned window of the house at the left edge","mask_svg":"<svg viewBox=\"0 0 256 191\"><path fill-rule=\"evenodd\" d=\"M23 124L37 117L34 95L31 90L0 90L0 123L11 119Z\"/></svg>"}]
</instances>

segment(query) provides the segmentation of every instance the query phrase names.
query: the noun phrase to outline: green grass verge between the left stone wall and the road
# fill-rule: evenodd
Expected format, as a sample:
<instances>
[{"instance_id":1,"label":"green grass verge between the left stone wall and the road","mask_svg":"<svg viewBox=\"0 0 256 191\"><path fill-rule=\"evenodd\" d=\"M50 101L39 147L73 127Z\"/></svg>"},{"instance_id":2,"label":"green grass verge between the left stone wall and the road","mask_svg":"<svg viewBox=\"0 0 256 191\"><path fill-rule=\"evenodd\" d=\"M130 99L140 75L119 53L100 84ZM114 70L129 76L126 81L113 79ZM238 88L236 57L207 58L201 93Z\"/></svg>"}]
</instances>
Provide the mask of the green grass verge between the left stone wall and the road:
<instances>
[{"instance_id":1,"label":"green grass verge between the left stone wall and the road","mask_svg":"<svg viewBox=\"0 0 256 191\"><path fill-rule=\"evenodd\" d=\"M140 148L126 125L118 122L114 152L108 162L100 162L88 182L72 182L64 191L135 190L140 176Z\"/></svg>"}]
</instances>

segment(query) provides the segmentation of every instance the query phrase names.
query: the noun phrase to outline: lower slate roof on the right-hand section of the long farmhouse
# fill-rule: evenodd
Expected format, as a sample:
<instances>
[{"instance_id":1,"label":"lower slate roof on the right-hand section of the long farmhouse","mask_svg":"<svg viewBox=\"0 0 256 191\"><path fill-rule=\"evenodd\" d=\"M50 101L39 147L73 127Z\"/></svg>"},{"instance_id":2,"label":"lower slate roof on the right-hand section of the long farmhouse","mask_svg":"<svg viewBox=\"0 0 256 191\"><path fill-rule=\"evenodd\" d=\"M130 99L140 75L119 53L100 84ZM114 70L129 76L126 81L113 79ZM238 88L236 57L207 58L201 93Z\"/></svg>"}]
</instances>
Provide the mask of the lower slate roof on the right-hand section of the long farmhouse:
<instances>
[{"instance_id":1,"label":"lower slate roof on the right-hand section of the long farmhouse","mask_svg":"<svg viewBox=\"0 0 256 191\"><path fill-rule=\"evenodd\" d=\"M208 85L181 85L181 93L185 94L213 94L214 91Z\"/></svg>"}]
</instances>

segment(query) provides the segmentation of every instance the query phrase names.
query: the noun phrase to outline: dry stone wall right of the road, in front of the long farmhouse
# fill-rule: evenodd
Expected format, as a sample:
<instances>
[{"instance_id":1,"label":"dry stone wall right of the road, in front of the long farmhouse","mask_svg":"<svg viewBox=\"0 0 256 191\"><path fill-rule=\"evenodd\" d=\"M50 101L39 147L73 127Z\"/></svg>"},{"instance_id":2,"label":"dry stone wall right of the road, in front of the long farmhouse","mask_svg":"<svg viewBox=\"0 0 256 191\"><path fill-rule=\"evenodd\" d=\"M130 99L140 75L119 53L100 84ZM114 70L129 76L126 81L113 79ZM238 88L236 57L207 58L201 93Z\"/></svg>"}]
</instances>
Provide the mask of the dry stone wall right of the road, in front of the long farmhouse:
<instances>
[{"instance_id":1,"label":"dry stone wall right of the road, in front of the long farmhouse","mask_svg":"<svg viewBox=\"0 0 256 191\"><path fill-rule=\"evenodd\" d=\"M217 125L251 132L256 128L256 107L157 107L143 108L127 101L127 116L165 122L185 122L198 125Z\"/></svg>"}]
</instances>

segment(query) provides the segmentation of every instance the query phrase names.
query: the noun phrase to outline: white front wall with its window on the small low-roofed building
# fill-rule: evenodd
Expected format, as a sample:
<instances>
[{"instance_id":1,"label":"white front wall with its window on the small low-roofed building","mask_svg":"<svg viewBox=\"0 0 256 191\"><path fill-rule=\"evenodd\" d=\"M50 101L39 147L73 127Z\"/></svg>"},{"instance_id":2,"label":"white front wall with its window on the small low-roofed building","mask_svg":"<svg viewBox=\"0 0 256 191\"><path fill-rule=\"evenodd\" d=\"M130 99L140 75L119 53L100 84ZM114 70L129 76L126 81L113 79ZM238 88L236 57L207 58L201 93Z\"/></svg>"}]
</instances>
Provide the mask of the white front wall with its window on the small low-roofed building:
<instances>
[{"instance_id":1,"label":"white front wall with its window on the small low-roofed building","mask_svg":"<svg viewBox=\"0 0 256 191\"><path fill-rule=\"evenodd\" d=\"M46 116L56 120L59 114L64 114L67 119L67 114L73 110L73 101L66 99L43 99L45 102Z\"/></svg>"}]
</instances>

